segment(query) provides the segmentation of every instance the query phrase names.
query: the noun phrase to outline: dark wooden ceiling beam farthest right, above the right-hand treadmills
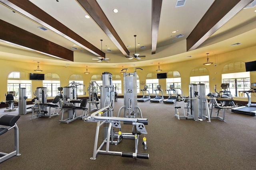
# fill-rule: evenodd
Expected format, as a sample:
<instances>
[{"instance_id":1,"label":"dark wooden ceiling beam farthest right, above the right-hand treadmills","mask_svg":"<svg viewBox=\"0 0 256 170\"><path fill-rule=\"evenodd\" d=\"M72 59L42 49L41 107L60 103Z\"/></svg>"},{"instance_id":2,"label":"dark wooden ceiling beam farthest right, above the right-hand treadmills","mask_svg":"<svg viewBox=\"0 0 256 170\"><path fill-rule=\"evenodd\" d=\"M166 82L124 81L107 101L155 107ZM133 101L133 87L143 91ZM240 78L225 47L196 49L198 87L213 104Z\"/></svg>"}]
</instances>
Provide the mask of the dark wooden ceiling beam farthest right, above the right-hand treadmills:
<instances>
[{"instance_id":1,"label":"dark wooden ceiling beam farthest right, above the right-hand treadmills","mask_svg":"<svg viewBox=\"0 0 256 170\"><path fill-rule=\"evenodd\" d=\"M187 51L199 47L252 0L215 0L188 36Z\"/></svg>"}]
</instances>

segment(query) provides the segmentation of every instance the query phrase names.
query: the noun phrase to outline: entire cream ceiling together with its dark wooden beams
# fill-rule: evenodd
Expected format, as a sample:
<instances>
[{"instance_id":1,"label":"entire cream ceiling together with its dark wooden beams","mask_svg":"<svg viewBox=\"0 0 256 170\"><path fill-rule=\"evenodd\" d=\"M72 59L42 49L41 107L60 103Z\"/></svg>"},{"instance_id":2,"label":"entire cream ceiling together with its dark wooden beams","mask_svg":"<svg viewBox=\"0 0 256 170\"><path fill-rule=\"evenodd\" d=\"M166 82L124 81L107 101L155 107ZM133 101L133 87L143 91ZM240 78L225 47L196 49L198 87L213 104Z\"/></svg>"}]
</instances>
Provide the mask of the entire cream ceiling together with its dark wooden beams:
<instances>
[{"instance_id":1,"label":"entire cream ceiling together with its dark wooden beams","mask_svg":"<svg viewBox=\"0 0 256 170\"><path fill-rule=\"evenodd\" d=\"M229 21L226 22L225 18L222 18L200 37L202 40L196 41L198 47L187 49L189 35L200 33L194 31L196 25L201 24L199 30L206 30L211 23L200 23L202 17L209 14L206 16L213 22L214 18L218 18L216 14L210 16L209 8L221 0L178 0L185 2L184 6L180 7L175 7L177 0L162 0L162 5L159 4L161 0L0 0L0 20L14 25L10 25L10 31L18 27L32 33L32 36L36 35L55 43L54 47L58 47L56 51L64 47L63 51L74 52L73 61L67 61L61 56L56 58L54 55L43 55L39 50L43 48L40 47L40 41L36 47L38 49L31 51L30 47L24 44L17 47L17 43L7 42L0 35L0 59L28 63L40 61L49 65L70 64L77 67L129 67L206 58L206 53L209 53L210 57L254 46L256 7L242 9L250 0L236 1L234 8L239 10L232 9L227 13L226 16L232 16ZM118 9L118 13L114 13L114 9ZM33 11L36 14L33 14ZM85 18L85 15L90 18ZM40 26L48 30L43 31L38 28ZM0 29L6 28L0 25ZM173 31L176 32L172 33ZM137 35L136 44L134 35ZM16 37L19 38L22 37ZM26 37L24 41L28 41ZM140 45L137 45L138 43ZM241 44L231 46L236 43ZM140 49L143 46L145 48ZM146 57L129 60L127 55L134 54L135 49L136 53ZM110 61L99 63L92 60L98 56L109 58Z\"/></svg>"}]
</instances>

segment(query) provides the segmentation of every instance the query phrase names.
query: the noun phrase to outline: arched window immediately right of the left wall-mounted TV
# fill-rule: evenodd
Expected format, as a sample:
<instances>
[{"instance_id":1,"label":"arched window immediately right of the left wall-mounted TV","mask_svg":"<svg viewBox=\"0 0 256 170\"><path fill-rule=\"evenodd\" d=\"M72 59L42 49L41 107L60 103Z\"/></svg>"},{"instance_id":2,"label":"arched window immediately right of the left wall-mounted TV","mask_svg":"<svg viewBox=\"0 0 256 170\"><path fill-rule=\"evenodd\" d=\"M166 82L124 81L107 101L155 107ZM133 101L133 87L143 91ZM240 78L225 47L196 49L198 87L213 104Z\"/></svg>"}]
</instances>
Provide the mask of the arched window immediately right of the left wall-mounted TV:
<instances>
[{"instance_id":1,"label":"arched window immediately right of the left wall-mounted TV","mask_svg":"<svg viewBox=\"0 0 256 170\"><path fill-rule=\"evenodd\" d=\"M43 87L47 88L47 96L57 96L60 87L60 77L55 73L44 74Z\"/></svg>"}]
</instances>

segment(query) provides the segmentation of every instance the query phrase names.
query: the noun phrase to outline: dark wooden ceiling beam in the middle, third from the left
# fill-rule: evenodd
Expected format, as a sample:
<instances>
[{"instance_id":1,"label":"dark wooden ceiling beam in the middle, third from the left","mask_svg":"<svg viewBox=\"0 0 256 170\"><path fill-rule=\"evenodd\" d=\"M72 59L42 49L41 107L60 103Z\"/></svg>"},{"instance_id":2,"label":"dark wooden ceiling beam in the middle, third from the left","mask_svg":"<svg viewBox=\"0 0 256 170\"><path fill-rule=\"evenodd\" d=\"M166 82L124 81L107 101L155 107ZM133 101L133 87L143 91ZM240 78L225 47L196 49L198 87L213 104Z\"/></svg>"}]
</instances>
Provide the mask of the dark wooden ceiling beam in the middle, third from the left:
<instances>
[{"instance_id":1,"label":"dark wooden ceiling beam in the middle, third from the left","mask_svg":"<svg viewBox=\"0 0 256 170\"><path fill-rule=\"evenodd\" d=\"M130 52L122 42L116 30L100 8L96 0L76 0L82 8L90 15L90 17L99 25L99 27L108 35L111 41L121 51L124 56L129 56Z\"/></svg>"}]
</instances>

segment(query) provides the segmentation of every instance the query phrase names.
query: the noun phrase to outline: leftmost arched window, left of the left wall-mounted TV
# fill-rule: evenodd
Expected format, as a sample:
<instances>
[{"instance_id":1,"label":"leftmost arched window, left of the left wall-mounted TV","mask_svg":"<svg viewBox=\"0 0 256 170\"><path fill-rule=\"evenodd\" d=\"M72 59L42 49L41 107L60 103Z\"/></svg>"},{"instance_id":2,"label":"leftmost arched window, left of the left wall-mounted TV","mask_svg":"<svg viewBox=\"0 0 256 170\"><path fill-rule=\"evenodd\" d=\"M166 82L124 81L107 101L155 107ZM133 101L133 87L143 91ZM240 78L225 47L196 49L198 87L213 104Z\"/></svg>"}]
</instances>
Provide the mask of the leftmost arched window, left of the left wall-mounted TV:
<instances>
[{"instance_id":1,"label":"leftmost arched window, left of the left wall-mounted TV","mask_svg":"<svg viewBox=\"0 0 256 170\"><path fill-rule=\"evenodd\" d=\"M30 99L32 98L31 94L31 80L29 80L29 74L27 72L10 72L7 79L7 91L15 91L17 96L14 97L15 100L18 100L18 88L26 88L26 96Z\"/></svg>"}]
</instances>

